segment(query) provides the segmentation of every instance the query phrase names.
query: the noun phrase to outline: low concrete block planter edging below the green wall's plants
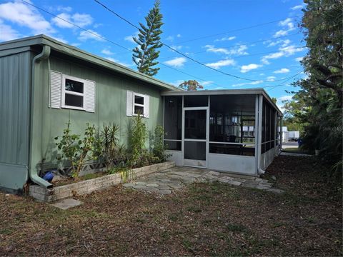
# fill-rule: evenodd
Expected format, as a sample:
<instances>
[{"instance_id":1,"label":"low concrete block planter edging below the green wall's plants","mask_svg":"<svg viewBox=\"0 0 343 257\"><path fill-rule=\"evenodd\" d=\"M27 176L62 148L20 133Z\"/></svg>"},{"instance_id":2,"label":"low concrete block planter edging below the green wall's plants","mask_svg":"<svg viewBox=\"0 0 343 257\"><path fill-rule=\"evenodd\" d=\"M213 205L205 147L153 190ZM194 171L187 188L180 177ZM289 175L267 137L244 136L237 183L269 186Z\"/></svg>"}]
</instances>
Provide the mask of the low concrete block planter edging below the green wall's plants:
<instances>
[{"instance_id":1,"label":"low concrete block planter edging below the green wall's plants","mask_svg":"<svg viewBox=\"0 0 343 257\"><path fill-rule=\"evenodd\" d=\"M166 168L172 168L174 166L174 161L166 161L164 163L157 163L142 168L134 168L129 171L129 174L131 174L130 178L139 178L141 176L146 176L149 173L162 171ZM71 183L69 185L56 186L49 189L33 185L29 188L29 196L36 198L38 201L52 202L61 200L63 198L80 196L93 191L102 190L119 183L121 183L121 176L119 173L115 173L86 181Z\"/></svg>"}]
</instances>

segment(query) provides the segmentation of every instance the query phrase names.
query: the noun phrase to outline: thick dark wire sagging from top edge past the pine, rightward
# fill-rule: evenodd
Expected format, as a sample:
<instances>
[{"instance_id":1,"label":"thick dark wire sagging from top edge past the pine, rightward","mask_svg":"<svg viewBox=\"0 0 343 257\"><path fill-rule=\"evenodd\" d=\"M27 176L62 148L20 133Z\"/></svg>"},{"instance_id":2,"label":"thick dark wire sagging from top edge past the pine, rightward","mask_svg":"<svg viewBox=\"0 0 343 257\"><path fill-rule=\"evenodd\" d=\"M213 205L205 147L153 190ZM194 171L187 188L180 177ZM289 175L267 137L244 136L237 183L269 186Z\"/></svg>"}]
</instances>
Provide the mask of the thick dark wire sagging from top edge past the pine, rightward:
<instances>
[{"instance_id":1,"label":"thick dark wire sagging from top edge past the pine, rightward","mask_svg":"<svg viewBox=\"0 0 343 257\"><path fill-rule=\"evenodd\" d=\"M110 11L110 12L111 12L112 14L114 14L115 16L119 17L119 19L125 21L126 23L130 24L131 26L133 26L133 27L136 28L136 29L140 29L138 26L132 24L131 21L128 21L128 20L125 19L123 16L121 16L121 15L117 14L115 11L109 9L109 7L105 6L105 5L102 4L100 1L98 1L98 0L94 0L94 1L95 1L97 4L103 6L106 10ZM278 20L278 21L282 21L282 20ZM271 22L269 22L269 23L272 23L272 22L277 22L277 21L271 21ZM199 64L199 65L201 65L201 66L206 67L207 69L212 69L213 71L216 71L216 72L218 72L218 73L221 73L221 74L224 74L224 75L227 75L227 76L231 76L231 77L236 78L236 79L243 79L243 80L246 80L246 81L258 81L258 80L256 80L256 79L247 79L247 78L244 78L244 77L241 77L241 76L236 76L236 75L233 75L233 74L229 74L229 73L224 72L224 71L219 71L218 69L214 69L214 68L212 68L211 66L207 66L206 64L203 64L202 62L197 61L196 59L193 59L192 57L187 56L186 54L184 54L184 53L178 51L177 49L174 49L172 46L169 46L168 44L165 44L165 43L162 42L162 41L159 41L159 43L162 44L162 45L164 45L164 46L166 46L166 48L168 48L168 49L170 49L170 50L176 52L177 54L182 55L182 56L184 56L185 58L187 58L187 59L189 59L189 60L191 60L191 61L194 61L195 63L197 63L197 64ZM286 78L286 79L288 79L288 78ZM278 79L278 80L275 80L275 81L284 81L284 80L285 80L285 79ZM270 82L270 81L263 81L263 82Z\"/></svg>"}]
</instances>

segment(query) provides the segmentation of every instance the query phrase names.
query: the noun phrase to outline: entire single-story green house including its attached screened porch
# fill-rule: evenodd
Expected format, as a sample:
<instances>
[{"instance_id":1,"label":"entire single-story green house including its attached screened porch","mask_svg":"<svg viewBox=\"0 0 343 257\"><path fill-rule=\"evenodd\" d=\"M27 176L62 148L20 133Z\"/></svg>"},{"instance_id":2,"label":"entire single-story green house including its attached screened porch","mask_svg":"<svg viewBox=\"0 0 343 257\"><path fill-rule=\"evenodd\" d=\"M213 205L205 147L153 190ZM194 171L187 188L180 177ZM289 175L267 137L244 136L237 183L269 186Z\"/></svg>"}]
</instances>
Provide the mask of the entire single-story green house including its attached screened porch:
<instances>
[{"instance_id":1,"label":"entire single-story green house including its attached screened porch","mask_svg":"<svg viewBox=\"0 0 343 257\"><path fill-rule=\"evenodd\" d=\"M66 123L163 124L179 166L258 176L279 151L282 113L263 89L182 91L74 46L39 35L0 44L0 189L20 193L56 161ZM247 129L244 129L247 128ZM252 133L253 131L253 133Z\"/></svg>"}]
</instances>

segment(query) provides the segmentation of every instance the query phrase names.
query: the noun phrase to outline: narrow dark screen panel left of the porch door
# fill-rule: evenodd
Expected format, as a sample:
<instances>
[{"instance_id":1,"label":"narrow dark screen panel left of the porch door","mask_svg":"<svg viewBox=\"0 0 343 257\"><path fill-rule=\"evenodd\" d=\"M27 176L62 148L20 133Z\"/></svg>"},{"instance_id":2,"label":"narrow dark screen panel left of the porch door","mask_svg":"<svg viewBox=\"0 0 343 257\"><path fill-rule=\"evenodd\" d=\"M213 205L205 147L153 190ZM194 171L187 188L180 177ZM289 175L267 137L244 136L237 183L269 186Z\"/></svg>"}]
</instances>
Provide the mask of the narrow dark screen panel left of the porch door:
<instances>
[{"instance_id":1,"label":"narrow dark screen panel left of the porch door","mask_svg":"<svg viewBox=\"0 0 343 257\"><path fill-rule=\"evenodd\" d=\"M164 96L164 144L169 150L182 148L182 96Z\"/></svg>"}]
</instances>

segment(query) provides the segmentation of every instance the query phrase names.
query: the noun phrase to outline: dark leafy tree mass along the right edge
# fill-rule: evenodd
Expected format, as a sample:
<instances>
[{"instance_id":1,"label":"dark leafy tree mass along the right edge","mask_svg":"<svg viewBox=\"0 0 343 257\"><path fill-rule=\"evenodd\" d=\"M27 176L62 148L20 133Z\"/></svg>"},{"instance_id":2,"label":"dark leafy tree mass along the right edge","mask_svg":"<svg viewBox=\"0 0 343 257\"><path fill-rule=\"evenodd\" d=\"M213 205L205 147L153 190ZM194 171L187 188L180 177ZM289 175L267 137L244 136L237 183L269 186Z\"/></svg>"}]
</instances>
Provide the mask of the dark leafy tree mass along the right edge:
<instances>
[{"instance_id":1,"label":"dark leafy tree mass along the right edge","mask_svg":"<svg viewBox=\"0 0 343 257\"><path fill-rule=\"evenodd\" d=\"M286 109L304 124L304 148L319 149L323 160L342 163L343 1L304 2L300 26L309 52L302 65L308 77L294 83L301 90ZM342 172L342 165L335 167Z\"/></svg>"}]
</instances>

